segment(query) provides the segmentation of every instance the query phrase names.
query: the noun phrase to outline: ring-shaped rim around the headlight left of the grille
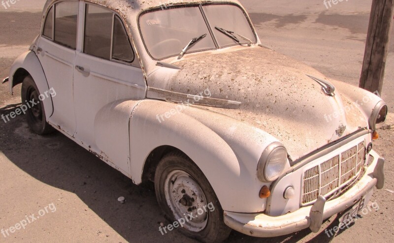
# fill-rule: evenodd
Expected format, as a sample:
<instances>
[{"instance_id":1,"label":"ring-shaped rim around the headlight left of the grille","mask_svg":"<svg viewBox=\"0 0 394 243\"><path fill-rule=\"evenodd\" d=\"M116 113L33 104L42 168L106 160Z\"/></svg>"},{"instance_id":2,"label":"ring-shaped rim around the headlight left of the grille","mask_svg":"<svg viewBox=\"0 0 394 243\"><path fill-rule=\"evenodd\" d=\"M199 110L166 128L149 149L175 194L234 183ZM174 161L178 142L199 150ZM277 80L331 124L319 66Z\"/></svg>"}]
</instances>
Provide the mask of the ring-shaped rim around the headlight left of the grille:
<instances>
[{"instance_id":1,"label":"ring-shaped rim around the headlight left of the grille","mask_svg":"<svg viewBox=\"0 0 394 243\"><path fill-rule=\"evenodd\" d=\"M267 171L267 166L268 166L268 161L269 159L272 157L272 155L274 154L274 152L276 152L279 149L283 149L286 152L286 158L283 161L283 165L282 165L282 170L278 173L278 176L276 178L272 178L272 179L267 179L266 178L266 171ZM283 171L285 170L286 167L286 163L287 163L287 150L285 148L285 146L280 143L280 142L273 142L271 144L269 144L264 152L262 153L262 156L259 159L259 163L257 165L257 178L261 181L261 182L274 182L276 181L280 175L283 173Z\"/></svg>"}]
</instances>

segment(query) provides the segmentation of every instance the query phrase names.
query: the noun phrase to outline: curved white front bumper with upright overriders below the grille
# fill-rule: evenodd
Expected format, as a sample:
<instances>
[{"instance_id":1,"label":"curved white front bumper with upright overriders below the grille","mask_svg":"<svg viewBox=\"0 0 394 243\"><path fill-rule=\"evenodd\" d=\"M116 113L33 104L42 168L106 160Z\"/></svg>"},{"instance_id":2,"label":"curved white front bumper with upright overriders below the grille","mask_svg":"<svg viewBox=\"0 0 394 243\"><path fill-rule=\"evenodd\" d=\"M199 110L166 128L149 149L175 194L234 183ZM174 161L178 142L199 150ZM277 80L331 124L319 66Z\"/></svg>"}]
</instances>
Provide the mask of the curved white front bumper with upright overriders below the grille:
<instances>
[{"instance_id":1,"label":"curved white front bumper with upright overriders below the grille","mask_svg":"<svg viewBox=\"0 0 394 243\"><path fill-rule=\"evenodd\" d=\"M281 216L269 216L264 213L232 213L224 212L224 221L232 229L255 237L275 237L296 231L314 228L320 229L322 220L341 213L356 204L373 187L381 189L384 184L384 159L371 151L373 161L366 168L361 179L340 197L315 205L302 207L293 213ZM324 210L323 210L324 208ZM319 210L320 209L320 210ZM323 212L316 212L323 211ZM315 231L315 230L313 230Z\"/></svg>"}]
</instances>

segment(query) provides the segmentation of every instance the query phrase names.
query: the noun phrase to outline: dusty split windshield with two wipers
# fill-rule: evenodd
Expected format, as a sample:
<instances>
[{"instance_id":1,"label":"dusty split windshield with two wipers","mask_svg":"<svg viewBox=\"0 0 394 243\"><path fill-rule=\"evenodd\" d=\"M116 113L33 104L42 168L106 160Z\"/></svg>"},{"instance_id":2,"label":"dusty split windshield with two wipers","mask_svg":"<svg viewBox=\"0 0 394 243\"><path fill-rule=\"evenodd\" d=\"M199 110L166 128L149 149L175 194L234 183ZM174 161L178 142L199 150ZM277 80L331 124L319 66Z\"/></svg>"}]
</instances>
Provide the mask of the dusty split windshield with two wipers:
<instances>
[{"instance_id":1,"label":"dusty split windshield with two wipers","mask_svg":"<svg viewBox=\"0 0 394 243\"><path fill-rule=\"evenodd\" d=\"M142 14L139 27L147 51L156 60L178 56L192 39L204 34L207 36L190 46L187 53L256 42L245 13L229 4L158 8ZM236 38L218 29L230 31Z\"/></svg>"}]
</instances>

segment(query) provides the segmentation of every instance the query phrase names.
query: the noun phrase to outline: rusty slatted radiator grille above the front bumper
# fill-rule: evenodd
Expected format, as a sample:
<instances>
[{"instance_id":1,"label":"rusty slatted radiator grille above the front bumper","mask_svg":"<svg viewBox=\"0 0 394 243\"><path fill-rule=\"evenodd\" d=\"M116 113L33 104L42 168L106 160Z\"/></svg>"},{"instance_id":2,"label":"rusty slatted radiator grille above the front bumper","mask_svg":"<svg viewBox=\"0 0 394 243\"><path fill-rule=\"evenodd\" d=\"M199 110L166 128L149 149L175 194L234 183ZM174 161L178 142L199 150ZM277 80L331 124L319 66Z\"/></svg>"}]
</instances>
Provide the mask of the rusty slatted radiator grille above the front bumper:
<instances>
[{"instance_id":1,"label":"rusty slatted radiator grille above the front bumper","mask_svg":"<svg viewBox=\"0 0 394 243\"><path fill-rule=\"evenodd\" d=\"M360 175L364 162L365 142L304 172L301 205L326 198Z\"/></svg>"}]
</instances>

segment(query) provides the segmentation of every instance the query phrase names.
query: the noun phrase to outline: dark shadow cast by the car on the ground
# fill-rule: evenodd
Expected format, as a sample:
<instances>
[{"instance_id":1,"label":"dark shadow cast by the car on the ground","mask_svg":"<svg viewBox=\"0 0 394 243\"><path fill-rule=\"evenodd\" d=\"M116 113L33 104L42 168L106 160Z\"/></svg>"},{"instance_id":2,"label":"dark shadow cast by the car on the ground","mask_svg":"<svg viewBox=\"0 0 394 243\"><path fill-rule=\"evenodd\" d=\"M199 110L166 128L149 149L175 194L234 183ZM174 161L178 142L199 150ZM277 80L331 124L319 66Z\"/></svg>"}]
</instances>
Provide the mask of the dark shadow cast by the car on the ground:
<instances>
[{"instance_id":1,"label":"dark shadow cast by the car on the ground","mask_svg":"<svg viewBox=\"0 0 394 243\"><path fill-rule=\"evenodd\" d=\"M19 106L2 107L0 114L15 111ZM159 232L160 223L169 222L161 213L152 182L133 184L60 132L46 136L34 134L22 115L7 123L0 121L0 134L0 151L12 163L41 182L77 195L128 242L196 242L175 230L164 236ZM120 196L126 198L125 204L117 201ZM330 238L322 233L310 242L329 242ZM287 236L260 239L232 231L226 242L298 242L310 234L305 229Z\"/></svg>"}]
</instances>

